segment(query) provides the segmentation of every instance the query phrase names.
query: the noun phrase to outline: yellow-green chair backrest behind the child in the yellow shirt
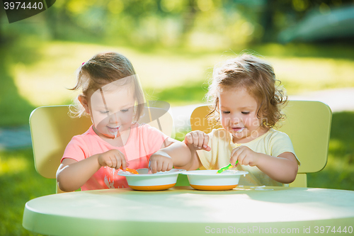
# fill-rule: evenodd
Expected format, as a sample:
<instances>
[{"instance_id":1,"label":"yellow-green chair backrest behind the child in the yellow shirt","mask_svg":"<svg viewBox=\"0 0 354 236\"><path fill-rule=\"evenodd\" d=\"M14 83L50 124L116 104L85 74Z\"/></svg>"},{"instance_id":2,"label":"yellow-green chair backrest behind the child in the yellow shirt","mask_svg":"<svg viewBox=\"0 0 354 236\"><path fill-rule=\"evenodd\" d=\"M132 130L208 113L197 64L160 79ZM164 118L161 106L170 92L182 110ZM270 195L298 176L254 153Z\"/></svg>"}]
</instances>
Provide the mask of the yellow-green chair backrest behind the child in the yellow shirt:
<instances>
[{"instance_id":1,"label":"yellow-green chair backrest behind the child in the yellow shirt","mask_svg":"<svg viewBox=\"0 0 354 236\"><path fill-rule=\"evenodd\" d=\"M195 108L190 116L192 130L210 133L214 126L205 118L210 106ZM290 186L307 186L306 173L319 172L327 163L329 135L331 132L331 108L320 101L289 101L283 109L287 116L278 130L287 133L292 140L295 154L301 162L297 178Z\"/></svg>"}]
</instances>

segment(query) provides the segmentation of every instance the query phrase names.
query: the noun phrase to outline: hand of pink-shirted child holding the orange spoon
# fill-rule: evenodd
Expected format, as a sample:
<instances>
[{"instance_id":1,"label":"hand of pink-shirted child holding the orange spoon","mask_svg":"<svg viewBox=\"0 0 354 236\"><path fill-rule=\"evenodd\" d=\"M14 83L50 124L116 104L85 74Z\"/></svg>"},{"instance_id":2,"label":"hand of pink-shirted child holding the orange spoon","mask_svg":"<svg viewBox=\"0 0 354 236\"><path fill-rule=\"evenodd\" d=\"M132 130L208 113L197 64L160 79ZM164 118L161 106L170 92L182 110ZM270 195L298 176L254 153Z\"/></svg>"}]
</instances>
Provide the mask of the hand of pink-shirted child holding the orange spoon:
<instances>
[{"instance_id":1,"label":"hand of pink-shirted child holding the orange spoon","mask_svg":"<svg viewBox=\"0 0 354 236\"><path fill-rule=\"evenodd\" d=\"M124 154L120 150L109 150L98 154L98 163L101 164L101 167L112 167L115 169L127 168L127 161L125 160Z\"/></svg>"}]
</instances>

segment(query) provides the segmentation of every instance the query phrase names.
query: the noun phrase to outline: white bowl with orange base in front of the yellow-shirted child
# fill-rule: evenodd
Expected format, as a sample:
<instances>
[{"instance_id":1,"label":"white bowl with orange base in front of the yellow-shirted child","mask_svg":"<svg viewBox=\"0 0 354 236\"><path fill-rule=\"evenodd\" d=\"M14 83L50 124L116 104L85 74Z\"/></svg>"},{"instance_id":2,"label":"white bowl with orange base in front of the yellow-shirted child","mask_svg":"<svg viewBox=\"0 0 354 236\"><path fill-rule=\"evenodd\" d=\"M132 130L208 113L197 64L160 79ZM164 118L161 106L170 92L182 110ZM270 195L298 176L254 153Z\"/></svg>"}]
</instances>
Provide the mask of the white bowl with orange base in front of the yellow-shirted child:
<instances>
[{"instance_id":1,"label":"white bowl with orange base in front of the yellow-shirted child","mask_svg":"<svg viewBox=\"0 0 354 236\"><path fill-rule=\"evenodd\" d=\"M239 184L241 175L245 176L249 172L226 170L217 174L217 169L195 170L184 172L188 176L188 181L193 189L198 190L230 190Z\"/></svg>"}]
</instances>

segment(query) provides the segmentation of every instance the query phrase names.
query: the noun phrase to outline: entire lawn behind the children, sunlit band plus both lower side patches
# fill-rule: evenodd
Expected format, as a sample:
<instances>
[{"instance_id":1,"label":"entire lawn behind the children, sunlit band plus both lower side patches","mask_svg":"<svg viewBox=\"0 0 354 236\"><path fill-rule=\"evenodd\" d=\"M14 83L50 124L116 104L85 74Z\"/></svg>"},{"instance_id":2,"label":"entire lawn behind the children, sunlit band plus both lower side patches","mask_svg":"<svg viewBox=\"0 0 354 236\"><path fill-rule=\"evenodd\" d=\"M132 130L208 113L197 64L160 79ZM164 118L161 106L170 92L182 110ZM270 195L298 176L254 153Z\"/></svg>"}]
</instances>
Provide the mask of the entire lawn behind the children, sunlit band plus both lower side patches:
<instances>
[{"instance_id":1,"label":"entire lawn behind the children, sunlit band plus both lower side patches","mask_svg":"<svg viewBox=\"0 0 354 236\"><path fill-rule=\"evenodd\" d=\"M215 63L239 53L140 51L109 45L73 42L33 43L26 38L16 47L1 46L0 126L28 123L37 106L71 103L74 72L97 52L115 50L135 65L148 99L171 106L200 103ZM354 47L339 45L262 45L253 48L264 55L288 91L316 91L354 86ZM319 173L308 175L309 187L354 190L354 111L333 113L329 161ZM183 135L178 135L182 137ZM25 202L55 193L55 180L35 172L30 148L0 151L0 235L33 235L22 222Z\"/></svg>"}]
</instances>

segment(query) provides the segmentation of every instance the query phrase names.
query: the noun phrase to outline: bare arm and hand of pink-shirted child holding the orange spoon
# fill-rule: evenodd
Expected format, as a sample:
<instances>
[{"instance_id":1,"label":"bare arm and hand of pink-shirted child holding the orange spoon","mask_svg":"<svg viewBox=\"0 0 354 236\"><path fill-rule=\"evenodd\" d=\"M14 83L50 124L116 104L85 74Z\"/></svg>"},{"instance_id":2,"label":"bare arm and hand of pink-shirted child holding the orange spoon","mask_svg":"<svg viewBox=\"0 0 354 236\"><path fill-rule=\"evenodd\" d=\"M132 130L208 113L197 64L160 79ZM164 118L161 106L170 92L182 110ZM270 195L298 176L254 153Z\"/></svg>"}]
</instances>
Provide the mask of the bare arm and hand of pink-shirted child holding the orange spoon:
<instances>
[{"instance_id":1,"label":"bare arm and hand of pink-shirted child holding the orange spoon","mask_svg":"<svg viewBox=\"0 0 354 236\"><path fill-rule=\"evenodd\" d=\"M77 162L71 158L65 158L57 170L57 182L62 191L75 191L83 186L93 174L101 167L125 169L127 162L124 154L119 150L109 150Z\"/></svg>"}]
</instances>

